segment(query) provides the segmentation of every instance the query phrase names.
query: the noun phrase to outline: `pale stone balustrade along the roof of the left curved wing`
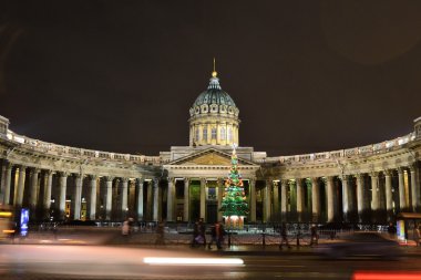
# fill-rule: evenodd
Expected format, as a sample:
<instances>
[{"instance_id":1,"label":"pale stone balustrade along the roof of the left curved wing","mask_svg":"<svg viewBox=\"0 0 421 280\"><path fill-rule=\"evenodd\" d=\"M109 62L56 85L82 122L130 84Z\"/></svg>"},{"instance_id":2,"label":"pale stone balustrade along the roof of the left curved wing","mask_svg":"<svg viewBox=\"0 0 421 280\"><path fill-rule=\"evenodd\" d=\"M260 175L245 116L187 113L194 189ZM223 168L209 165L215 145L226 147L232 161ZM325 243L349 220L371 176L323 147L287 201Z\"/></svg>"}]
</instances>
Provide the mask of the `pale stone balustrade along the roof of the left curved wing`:
<instances>
[{"instance_id":1,"label":"pale stone balustrade along the roof of the left curved wing","mask_svg":"<svg viewBox=\"0 0 421 280\"><path fill-rule=\"evenodd\" d=\"M144 156L131 154L117 154L94 149L84 149L70 146L62 146L53 143L32 139L8 131L7 138L23 145L24 147L34 152L47 153L58 156L78 157L81 159L106 159L116 162L133 162L143 165L161 165L162 160L158 156Z\"/></svg>"}]
</instances>

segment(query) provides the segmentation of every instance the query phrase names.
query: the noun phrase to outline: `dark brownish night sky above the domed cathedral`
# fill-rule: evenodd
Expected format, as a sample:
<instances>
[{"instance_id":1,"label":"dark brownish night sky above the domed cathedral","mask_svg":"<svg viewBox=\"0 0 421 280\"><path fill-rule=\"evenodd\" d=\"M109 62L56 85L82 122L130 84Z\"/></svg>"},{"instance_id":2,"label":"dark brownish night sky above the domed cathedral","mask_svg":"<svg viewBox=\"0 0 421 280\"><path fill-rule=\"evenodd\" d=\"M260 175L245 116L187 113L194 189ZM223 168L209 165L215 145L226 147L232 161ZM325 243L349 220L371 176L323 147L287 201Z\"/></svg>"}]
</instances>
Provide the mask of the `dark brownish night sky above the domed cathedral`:
<instances>
[{"instance_id":1,"label":"dark brownish night sky above the domed cathedral","mask_svg":"<svg viewBox=\"0 0 421 280\"><path fill-rule=\"evenodd\" d=\"M421 1L1 1L0 115L19 134L158 155L188 145L213 58L240 146L269 156L405 135Z\"/></svg>"}]
</instances>

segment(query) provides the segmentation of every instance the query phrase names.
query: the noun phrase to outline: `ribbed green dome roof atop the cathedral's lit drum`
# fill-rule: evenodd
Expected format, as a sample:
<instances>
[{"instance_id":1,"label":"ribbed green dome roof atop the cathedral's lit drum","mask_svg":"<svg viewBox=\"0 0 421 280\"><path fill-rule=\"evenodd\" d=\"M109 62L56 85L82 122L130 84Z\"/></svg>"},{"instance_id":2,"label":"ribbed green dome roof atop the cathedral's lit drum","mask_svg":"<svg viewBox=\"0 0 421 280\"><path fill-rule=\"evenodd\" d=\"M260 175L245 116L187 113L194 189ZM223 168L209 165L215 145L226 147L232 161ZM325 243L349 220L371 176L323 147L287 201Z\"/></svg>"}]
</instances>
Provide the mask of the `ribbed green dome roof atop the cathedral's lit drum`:
<instances>
[{"instance_id":1,"label":"ribbed green dome roof atop the cathedral's lit drum","mask_svg":"<svg viewBox=\"0 0 421 280\"><path fill-rule=\"evenodd\" d=\"M210 79L207 90L198 95L196 101L193 103L193 107L202 106L203 104L216 104L236 107L229 94L220 89L219 79L217 77Z\"/></svg>"}]
</instances>

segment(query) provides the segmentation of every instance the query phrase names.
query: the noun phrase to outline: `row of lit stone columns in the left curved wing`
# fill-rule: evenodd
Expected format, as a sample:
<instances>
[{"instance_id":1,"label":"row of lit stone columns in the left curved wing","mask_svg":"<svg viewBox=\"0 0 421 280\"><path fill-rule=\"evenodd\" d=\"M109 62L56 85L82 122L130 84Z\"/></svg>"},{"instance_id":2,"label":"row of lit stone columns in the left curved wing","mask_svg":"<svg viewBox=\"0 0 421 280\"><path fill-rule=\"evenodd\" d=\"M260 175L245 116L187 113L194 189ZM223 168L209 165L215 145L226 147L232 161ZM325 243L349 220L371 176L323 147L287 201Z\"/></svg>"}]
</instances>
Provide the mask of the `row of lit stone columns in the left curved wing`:
<instances>
[{"instance_id":1,"label":"row of lit stone columns in the left curved wing","mask_svg":"<svg viewBox=\"0 0 421 280\"><path fill-rule=\"evenodd\" d=\"M6 160L0 177L0 204L29 208L32 219L121 220L130 215L158 220L156 178L73 174Z\"/></svg>"}]
</instances>

